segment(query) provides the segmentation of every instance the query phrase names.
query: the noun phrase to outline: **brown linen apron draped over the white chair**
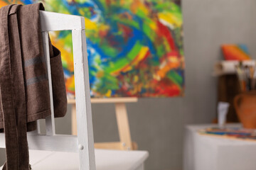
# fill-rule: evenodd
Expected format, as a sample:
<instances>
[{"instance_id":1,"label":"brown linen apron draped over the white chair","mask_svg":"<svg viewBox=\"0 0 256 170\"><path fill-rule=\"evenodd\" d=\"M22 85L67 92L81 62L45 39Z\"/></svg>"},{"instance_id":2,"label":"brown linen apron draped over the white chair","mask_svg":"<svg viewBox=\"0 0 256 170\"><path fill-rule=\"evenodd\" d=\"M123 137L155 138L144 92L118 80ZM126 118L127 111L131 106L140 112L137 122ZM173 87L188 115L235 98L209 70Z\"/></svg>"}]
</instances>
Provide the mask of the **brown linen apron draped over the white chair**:
<instances>
[{"instance_id":1,"label":"brown linen apron draped over the white chair","mask_svg":"<svg viewBox=\"0 0 256 170\"><path fill-rule=\"evenodd\" d=\"M50 115L46 61L39 10L42 4L0 8L0 129L6 137L4 169L28 170L27 130ZM67 109L63 68L58 49L50 44L55 117Z\"/></svg>"}]
</instances>

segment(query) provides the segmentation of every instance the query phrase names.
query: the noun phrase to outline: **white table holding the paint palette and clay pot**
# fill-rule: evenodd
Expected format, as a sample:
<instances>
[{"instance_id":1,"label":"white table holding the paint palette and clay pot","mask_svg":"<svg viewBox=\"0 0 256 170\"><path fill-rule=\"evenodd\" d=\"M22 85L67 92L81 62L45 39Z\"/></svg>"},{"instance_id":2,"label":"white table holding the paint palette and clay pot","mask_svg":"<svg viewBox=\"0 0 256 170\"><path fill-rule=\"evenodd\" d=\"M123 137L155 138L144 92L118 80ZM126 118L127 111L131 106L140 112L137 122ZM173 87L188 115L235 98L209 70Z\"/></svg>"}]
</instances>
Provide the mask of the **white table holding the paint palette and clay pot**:
<instances>
[{"instance_id":1,"label":"white table holding the paint palette and clay pot","mask_svg":"<svg viewBox=\"0 0 256 170\"><path fill-rule=\"evenodd\" d=\"M256 142L199 135L198 130L216 125L186 126L183 170L255 170ZM231 124L228 127L240 127Z\"/></svg>"}]
</instances>

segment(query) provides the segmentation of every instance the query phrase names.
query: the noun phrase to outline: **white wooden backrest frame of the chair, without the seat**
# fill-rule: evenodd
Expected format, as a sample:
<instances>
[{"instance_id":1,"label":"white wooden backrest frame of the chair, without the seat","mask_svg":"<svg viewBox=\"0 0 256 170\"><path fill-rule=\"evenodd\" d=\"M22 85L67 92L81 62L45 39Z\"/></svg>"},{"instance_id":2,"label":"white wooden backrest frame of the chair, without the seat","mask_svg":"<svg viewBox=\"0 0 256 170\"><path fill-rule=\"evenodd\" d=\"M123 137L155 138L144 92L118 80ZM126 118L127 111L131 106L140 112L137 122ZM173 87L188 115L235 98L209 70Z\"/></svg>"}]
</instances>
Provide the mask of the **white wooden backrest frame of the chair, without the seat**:
<instances>
[{"instance_id":1,"label":"white wooden backrest frame of the chair, without the seat","mask_svg":"<svg viewBox=\"0 0 256 170\"><path fill-rule=\"evenodd\" d=\"M85 38L85 18L61 13L41 11L41 31L50 86L51 115L46 118L46 135L41 135L39 123L36 132L28 133L29 149L56 152L78 152L80 170L95 169L95 150L92 130L90 84ZM50 76L48 31L72 30L75 74L75 102L78 136L56 135L53 113L53 92ZM0 134L0 147L5 147L4 134Z\"/></svg>"}]
</instances>

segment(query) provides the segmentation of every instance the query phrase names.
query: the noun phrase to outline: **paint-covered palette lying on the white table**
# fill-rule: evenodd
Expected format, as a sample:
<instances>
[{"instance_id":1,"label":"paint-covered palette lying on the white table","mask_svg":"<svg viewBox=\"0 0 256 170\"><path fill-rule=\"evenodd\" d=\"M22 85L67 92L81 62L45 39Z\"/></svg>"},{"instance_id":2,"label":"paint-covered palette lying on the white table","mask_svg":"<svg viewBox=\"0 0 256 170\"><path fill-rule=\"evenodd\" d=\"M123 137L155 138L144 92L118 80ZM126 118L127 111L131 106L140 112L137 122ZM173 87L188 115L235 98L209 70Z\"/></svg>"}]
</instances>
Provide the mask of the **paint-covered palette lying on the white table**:
<instances>
[{"instance_id":1,"label":"paint-covered palette lying on the white table","mask_svg":"<svg viewBox=\"0 0 256 170\"><path fill-rule=\"evenodd\" d=\"M198 130L201 135L210 135L214 137L223 137L234 140L252 140L256 142L255 129L242 129L242 128L206 128Z\"/></svg>"}]
</instances>

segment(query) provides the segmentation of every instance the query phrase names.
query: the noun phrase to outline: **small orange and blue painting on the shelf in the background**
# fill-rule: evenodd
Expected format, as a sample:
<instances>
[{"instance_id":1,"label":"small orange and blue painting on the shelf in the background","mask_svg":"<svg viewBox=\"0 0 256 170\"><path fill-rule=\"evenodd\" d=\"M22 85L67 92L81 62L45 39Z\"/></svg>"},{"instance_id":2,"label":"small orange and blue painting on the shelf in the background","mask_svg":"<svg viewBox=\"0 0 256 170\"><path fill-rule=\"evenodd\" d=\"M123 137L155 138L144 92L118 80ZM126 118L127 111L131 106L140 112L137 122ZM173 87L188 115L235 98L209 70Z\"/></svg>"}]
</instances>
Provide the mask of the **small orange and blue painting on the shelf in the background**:
<instances>
[{"instance_id":1,"label":"small orange and blue painting on the shelf in the background","mask_svg":"<svg viewBox=\"0 0 256 170\"><path fill-rule=\"evenodd\" d=\"M222 45L225 60L251 60L249 50L245 44Z\"/></svg>"}]
</instances>

